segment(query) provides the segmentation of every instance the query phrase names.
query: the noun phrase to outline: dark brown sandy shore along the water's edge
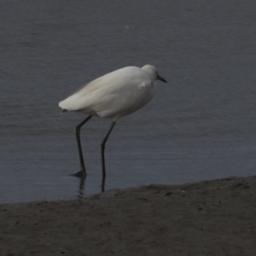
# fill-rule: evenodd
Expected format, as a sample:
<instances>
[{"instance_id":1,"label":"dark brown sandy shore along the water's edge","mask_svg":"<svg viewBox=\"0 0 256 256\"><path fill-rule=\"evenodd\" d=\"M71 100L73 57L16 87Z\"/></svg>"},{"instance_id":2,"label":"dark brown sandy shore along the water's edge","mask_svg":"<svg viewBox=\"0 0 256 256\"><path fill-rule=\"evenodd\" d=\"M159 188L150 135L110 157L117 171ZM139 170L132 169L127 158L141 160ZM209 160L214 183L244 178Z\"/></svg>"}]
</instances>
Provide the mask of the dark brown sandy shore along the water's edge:
<instances>
[{"instance_id":1,"label":"dark brown sandy shore along the water's edge","mask_svg":"<svg viewBox=\"0 0 256 256\"><path fill-rule=\"evenodd\" d=\"M254 255L256 177L0 206L1 255Z\"/></svg>"}]
</instances>

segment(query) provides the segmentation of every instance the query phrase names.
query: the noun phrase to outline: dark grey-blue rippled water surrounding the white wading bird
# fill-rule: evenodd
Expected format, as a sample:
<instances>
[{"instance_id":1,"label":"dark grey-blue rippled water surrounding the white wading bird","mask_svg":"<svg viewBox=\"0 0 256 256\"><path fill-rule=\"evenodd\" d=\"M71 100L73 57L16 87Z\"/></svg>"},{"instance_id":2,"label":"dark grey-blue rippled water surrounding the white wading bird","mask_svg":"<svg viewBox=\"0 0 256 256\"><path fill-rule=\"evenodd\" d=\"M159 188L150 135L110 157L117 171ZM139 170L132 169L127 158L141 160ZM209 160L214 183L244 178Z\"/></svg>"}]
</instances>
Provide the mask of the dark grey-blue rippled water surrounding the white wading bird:
<instances>
[{"instance_id":1,"label":"dark grey-blue rippled water surrounding the white wading bird","mask_svg":"<svg viewBox=\"0 0 256 256\"><path fill-rule=\"evenodd\" d=\"M150 63L168 84L119 119L106 189L256 175L254 1L0 1L0 202L101 191L108 119L84 125L88 177L57 104L82 84Z\"/></svg>"}]
</instances>

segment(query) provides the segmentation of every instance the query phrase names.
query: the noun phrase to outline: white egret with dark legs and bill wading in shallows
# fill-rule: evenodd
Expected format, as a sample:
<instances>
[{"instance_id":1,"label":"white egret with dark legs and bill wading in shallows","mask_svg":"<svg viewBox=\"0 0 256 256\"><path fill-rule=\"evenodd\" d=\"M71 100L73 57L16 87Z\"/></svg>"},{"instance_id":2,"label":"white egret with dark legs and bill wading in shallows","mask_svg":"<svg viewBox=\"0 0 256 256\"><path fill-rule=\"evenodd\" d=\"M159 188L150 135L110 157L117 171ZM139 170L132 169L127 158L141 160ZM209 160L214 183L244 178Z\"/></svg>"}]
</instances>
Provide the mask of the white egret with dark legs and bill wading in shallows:
<instances>
[{"instance_id":1,"label":"white egret with dark legs and bill wading in shallows","mask_svg":"<svg viewBox=\"0 0 256 256\"><path fill-rule=\"evenodd\" d=\"M105 178L105 144L114 125L119 118L143 108L153 98L156 80L167 83L152 65L122 67L90 81L73 95L59 102L62 113L73 111L88 114L86 119L75 127L80 160L80 171L76 176L86 176L80 141L81 127L93 116L112 119L108 133L101 143L102 177Z\"/></svg>"}]
</instances>

